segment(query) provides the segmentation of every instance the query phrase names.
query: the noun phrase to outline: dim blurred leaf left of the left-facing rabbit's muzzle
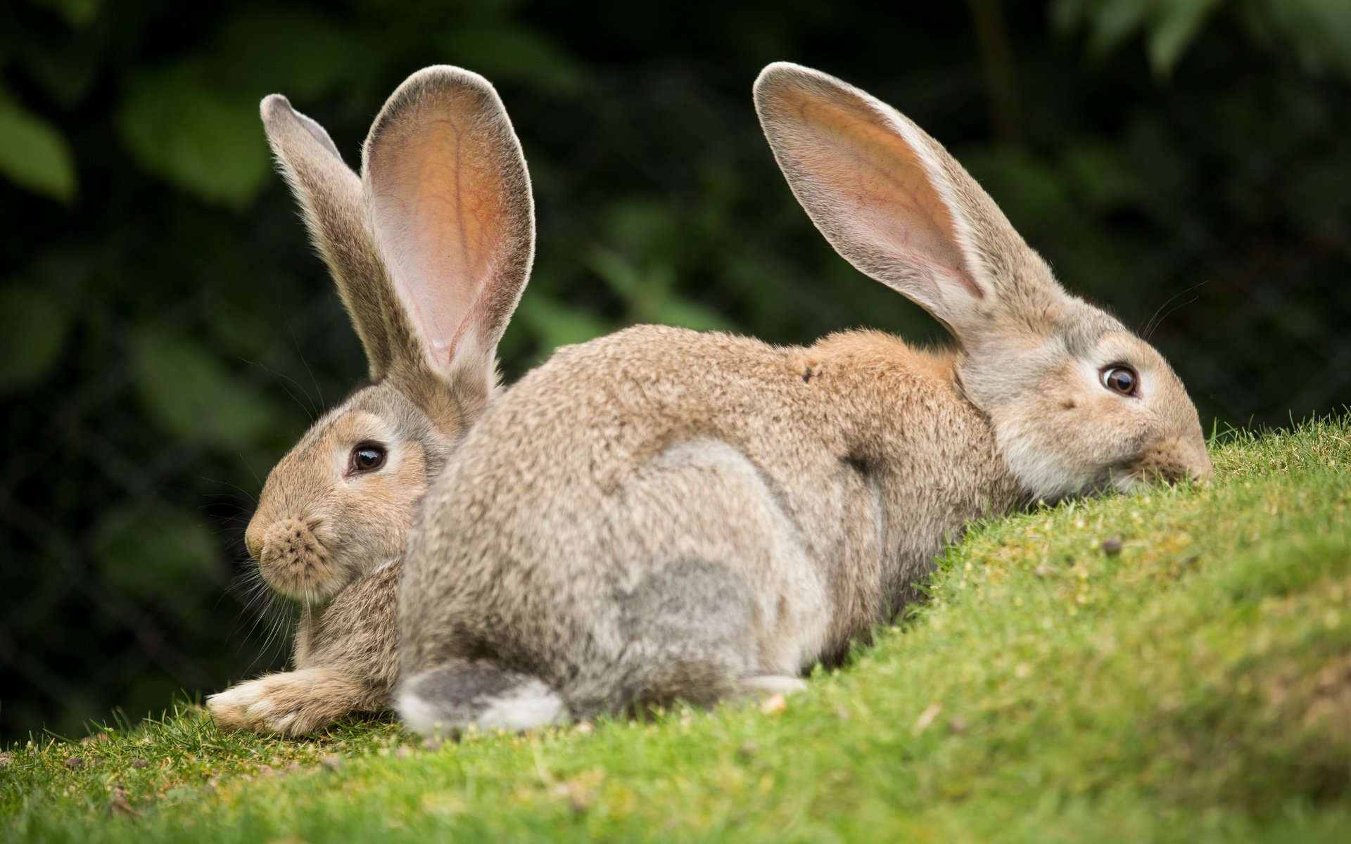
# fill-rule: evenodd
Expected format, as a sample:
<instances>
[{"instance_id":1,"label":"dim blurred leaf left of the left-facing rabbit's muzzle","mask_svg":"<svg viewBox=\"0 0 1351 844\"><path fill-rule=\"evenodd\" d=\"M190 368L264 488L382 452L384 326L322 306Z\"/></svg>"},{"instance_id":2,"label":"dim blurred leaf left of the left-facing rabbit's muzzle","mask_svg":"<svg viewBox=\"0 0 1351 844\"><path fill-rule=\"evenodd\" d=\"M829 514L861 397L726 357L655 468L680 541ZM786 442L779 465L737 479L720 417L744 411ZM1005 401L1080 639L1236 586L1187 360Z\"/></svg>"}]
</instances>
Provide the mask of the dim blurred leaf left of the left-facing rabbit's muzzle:
<instances>
[{"instance_id":1,"label":"dim blurred leaf left of the left-facing rabbit's muzzle","mask_svg":"<svg viewBox=\"0 0 1351 844\"><path fill-rule=\"evenodd\" d=\"M211 574L219 551L204 524L181 512L126 505L93 528L103 577L128 598L165 600L176 587Z\"/></svg>"}]
</instances>

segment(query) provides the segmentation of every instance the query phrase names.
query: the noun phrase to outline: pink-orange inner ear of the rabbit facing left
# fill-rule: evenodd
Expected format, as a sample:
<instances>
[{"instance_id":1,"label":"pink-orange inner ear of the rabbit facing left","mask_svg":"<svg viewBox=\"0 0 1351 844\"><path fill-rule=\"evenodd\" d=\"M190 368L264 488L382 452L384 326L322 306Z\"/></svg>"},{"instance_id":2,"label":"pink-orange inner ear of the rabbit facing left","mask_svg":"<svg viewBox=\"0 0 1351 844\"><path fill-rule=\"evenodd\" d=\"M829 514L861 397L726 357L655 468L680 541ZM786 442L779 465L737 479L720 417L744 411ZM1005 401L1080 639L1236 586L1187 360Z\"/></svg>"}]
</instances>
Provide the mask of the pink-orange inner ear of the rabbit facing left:
<instances>
[{"instance_id":1,"label":"pink-orange inner ear of the rabbit facing left","mask_svg":"<svg viewBox=\"0 0 1351 844\"><path fill-rule=\"evenodd\" d=\"M474 109L424 101L411 111L390 120L370 154L370 216L413 327L446 370L492 278L503 178Z\"/></svg>"}]
</instances>

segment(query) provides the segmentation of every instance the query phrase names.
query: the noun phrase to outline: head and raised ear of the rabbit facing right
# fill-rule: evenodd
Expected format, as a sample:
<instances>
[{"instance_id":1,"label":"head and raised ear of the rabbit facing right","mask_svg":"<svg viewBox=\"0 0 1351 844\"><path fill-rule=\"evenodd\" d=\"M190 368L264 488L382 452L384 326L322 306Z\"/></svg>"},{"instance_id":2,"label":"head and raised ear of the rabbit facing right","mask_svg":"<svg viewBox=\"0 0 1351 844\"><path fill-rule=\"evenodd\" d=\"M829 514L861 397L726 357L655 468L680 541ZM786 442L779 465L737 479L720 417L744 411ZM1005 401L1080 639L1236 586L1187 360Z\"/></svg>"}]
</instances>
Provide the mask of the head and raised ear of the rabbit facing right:
<instances>
[{"instance_id":1,"label":"head and raised ear of the rabbit facing right","mask_svg":"<svg viewBox=\"0 0 1351 844\"><path fill-rule=\"evenodd\" d=\"M778 62L755 107L835 250L957 338L957 377L1034 497L1205 479L1196 408L1163 357L1066 293L947 151L890 105Z\"/></svg>"}]
</instances>

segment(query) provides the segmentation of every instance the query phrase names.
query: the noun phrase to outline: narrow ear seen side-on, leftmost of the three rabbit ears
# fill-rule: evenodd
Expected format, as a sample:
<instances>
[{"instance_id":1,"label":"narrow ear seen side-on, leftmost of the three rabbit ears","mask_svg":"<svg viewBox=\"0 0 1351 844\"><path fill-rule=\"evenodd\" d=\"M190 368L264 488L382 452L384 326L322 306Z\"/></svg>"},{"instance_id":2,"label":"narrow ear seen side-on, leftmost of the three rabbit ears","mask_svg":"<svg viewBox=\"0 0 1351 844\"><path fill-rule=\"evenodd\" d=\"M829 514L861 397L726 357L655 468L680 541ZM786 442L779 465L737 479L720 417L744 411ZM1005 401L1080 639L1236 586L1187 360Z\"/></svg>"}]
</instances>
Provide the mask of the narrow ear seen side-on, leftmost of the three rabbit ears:
<instances>
[{"instance_id":1,"label":"narrow ear seen side-on, leftmost of the three rabbit ears","mask_svg":"<svg viewBox=\"0 0 1351 844\"><path fill-rule=\"evenodd\" d=\"M378 381L390 362L384 317L389 284L366 231L361 178L343 163L328 132L293 109L286 97L274 93L262 101L259 111L277 166L338 285L366 350L370 377Z\"/></svg>"}]
</instances>

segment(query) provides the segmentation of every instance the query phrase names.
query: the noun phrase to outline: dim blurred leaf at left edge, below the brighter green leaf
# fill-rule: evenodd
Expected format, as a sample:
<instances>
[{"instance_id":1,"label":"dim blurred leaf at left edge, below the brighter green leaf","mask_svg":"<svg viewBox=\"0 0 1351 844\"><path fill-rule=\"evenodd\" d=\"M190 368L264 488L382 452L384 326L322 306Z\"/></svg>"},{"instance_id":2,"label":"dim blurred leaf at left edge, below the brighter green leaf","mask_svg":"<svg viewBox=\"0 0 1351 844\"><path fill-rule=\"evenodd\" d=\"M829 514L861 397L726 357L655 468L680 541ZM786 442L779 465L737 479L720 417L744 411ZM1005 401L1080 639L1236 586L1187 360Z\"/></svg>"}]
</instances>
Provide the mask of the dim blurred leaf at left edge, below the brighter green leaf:
<instances>
[{"instance_id":1,"label":"dim blurred leaf at left edge, below the brighter green leaf","mask_svg":"<svg viewBox=\"0 0 1351 844\"><path fill-rule=\"evenodd\" d=\"M69 307L36 285L0 288L5 331L0 343L0 390L42 379L61 357L70 329Z\"/></svg>"}]
</instances>

